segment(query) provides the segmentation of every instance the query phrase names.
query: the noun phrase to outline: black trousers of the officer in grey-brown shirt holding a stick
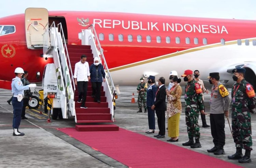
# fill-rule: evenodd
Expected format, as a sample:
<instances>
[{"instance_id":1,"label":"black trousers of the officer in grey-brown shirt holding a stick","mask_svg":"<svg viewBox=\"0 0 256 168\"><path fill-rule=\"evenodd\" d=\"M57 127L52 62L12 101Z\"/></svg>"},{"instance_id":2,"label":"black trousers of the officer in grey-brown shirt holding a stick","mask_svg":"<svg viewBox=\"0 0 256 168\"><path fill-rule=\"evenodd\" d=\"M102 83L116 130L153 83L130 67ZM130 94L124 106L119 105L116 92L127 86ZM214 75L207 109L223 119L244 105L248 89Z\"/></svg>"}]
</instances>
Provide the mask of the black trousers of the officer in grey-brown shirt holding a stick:
<instances>
[{"instance_id":1,"label":"black trousers of the officer in grey-brown shirt holding a stick","mask_svg":"<svg viewBox=\"0 0 256 168\"><path fill-rule=\"evenodd\" d=\"M223 148L225 145L225 118L223 114L210 114L211 133L214 146Z\"/></svg>"}]
</instances>

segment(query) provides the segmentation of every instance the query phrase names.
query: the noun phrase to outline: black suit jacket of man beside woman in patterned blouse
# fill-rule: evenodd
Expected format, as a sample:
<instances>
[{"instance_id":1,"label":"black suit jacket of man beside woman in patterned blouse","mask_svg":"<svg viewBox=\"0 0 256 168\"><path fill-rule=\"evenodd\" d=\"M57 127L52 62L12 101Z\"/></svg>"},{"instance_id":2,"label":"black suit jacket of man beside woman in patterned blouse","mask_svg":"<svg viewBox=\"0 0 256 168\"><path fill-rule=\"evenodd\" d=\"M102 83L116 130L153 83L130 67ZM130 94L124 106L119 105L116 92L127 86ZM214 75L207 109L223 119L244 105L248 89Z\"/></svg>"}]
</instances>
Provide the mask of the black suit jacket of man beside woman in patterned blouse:
<instances>
[{"instance_id":1,"label":"black suit jacket of man beside woman in patterned blouse","mask_svg":"<svg viewBox=\"0 0 256 168\"><path fill-rule=\"evenodd\" d=\"M166 87L163 85L156 94L155 110L166 111Z\"/></svg>"}]
</instances>

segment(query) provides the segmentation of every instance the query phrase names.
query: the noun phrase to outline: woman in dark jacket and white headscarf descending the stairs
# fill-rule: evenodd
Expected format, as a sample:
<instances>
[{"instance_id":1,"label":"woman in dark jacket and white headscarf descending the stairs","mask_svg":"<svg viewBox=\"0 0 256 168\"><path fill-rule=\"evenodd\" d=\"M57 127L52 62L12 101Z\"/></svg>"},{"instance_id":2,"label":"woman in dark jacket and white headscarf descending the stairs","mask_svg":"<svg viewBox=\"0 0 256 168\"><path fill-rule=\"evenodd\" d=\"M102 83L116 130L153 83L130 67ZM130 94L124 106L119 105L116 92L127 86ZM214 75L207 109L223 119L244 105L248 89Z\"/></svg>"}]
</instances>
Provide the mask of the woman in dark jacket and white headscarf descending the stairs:
<instances>
[{"instance_id":1,"label":"woman in dark jacket and white headscarf descending the stairs","mask_svg":"<svg viewBox=\"0 0 256 168\"><path fill-rule=\"evenodd\" d=\"M102 81L105 82L105 75L103 65L99 63L99 58L95 57L94 63L90 66L91 86L93 88L93 94L91 97L94 97L94 101L98 103L100 103L100 90Z\"/></svg>"}]
</instances>

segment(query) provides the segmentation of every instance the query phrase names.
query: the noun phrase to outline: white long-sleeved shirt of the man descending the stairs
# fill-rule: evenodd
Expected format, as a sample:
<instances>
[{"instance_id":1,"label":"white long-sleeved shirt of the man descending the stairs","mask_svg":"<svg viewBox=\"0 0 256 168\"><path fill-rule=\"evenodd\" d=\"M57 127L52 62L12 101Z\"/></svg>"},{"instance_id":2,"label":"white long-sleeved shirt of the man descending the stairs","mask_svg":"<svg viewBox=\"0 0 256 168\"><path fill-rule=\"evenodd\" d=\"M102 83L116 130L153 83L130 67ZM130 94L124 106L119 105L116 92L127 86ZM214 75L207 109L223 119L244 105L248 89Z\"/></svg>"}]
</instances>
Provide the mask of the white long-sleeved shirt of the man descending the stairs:
<instances>
[{"instance_id":1,"label":"white long-sleeved shirt of the man descending the stairs","mask_svg":"<svg viewBox=\"0 0 256 168\"><path fill-rule=\"evenodd\" d=\"M88 76L90 76L89 64L85 61L83 64L81 61L75 64L74 78L76 81L88 81Z\"/></svg>"}]
</instances>

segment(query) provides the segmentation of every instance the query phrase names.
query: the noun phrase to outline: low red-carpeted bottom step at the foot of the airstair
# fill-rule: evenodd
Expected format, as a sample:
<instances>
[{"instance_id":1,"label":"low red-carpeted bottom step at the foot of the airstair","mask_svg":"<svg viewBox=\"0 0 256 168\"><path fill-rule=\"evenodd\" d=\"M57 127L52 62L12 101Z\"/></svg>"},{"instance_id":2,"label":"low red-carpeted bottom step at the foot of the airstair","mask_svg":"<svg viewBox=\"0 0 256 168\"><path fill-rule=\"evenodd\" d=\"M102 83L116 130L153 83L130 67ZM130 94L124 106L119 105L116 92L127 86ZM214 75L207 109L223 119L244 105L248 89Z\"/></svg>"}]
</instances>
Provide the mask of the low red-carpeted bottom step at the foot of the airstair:
<instances>
[{"instance_id":1,"label":"low red-carpeted bottom step at the foot of the airstair","mask_svg":"<svg viewBox=\"0 0 256 168\"><path fill-rule=\"evenodd\" d=\"M76 131L119 131L119 127L114 124L104 125L75 125Z\"/></svg>"}]
</instances>

